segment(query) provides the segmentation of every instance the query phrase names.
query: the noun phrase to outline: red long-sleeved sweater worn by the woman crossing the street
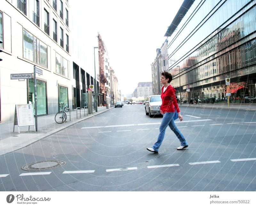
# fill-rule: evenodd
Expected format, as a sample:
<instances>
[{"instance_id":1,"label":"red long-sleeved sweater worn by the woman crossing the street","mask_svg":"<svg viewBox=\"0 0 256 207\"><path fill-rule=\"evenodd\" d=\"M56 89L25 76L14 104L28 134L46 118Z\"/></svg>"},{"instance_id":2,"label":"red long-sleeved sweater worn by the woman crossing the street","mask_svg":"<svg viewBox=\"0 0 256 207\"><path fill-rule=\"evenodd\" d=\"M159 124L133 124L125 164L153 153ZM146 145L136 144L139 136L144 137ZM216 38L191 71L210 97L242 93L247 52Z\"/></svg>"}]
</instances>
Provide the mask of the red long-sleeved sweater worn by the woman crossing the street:
<instances>
[{"instance_id":1,"label":"red long-sleeved sweater worn by the woman crossing the street","mask_svg":"<svg viewBox=\"0 0 256 207\"><path fill-rule=\"evenodd\" d=\"M160 109L165 112L174 112L174 107L176 108L176 111L179 113L180 109L177 103L177 99L175 96L175 89L168 85L166 90L164 91L164 86L162 87L162 93L161 93L161 99L162 99L162 105Z\"/></svg>"}]
</instances>

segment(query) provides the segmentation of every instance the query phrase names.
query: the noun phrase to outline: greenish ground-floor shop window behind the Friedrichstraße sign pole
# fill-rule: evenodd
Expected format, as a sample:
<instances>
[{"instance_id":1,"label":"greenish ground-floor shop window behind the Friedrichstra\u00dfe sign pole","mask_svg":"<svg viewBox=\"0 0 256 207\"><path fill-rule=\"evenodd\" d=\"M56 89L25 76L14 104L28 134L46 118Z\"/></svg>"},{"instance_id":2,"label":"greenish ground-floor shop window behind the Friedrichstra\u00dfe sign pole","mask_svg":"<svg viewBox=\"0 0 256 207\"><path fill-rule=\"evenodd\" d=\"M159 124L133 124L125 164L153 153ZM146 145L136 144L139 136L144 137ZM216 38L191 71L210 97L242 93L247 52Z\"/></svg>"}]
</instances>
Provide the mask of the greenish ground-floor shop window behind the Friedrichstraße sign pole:
<instances>
[{"instance_id":1,"label":"greenish ground-floor shop window behind the Friedrichstra\u00dfe sign pole","mask_svg":"<svg viewBox=\"0 0 256 207\"><path fill-rule=\"evenodd\" d=\"M37 115L47 114L46 82L36 80ZM35 114L35 84L34 79L28 79L28 103L31 103Z\"/></svg>"}]
</instances>

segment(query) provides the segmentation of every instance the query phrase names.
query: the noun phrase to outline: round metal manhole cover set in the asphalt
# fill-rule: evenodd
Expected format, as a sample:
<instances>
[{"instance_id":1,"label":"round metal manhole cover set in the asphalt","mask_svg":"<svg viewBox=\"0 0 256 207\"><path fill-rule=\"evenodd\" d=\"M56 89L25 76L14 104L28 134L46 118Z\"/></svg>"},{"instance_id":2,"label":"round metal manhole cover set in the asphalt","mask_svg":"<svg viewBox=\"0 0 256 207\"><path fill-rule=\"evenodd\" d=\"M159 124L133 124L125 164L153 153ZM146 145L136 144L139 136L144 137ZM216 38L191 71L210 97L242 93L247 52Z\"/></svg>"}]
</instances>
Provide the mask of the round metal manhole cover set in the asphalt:
<instances>
[{"instance_id":1,"label":"round metal manhole cover set in the asphalt","mask_svg":"<svg viewBox=\"0 0 256 207\"><path fill-rule=\"evenodd\" d=\"M51 159L51 160L42 160L38 162L31 162L27 165L24 165L21 168L23 170L28 170L28 171L41 171L41 170L50 170L56 167L61 167L65 164L66 164L65 161Z\"/></svg>"}]
</instances>

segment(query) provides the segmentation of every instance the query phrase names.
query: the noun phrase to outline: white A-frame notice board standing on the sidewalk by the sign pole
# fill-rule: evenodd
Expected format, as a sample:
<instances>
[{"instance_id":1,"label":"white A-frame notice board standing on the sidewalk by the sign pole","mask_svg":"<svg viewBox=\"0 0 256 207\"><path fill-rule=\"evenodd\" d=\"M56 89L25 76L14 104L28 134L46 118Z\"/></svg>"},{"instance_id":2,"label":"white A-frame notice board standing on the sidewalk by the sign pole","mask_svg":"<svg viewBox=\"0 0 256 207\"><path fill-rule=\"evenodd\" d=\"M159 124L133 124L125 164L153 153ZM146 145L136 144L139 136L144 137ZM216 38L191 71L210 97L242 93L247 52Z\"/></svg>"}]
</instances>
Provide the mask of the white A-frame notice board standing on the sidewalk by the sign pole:
<instances>
[{"instance_id":1,"label":"white A-frame notice board standing on the sidewalk by the sign pole","mask_svg":"<svg viewBox=\"0 0 256 207\"><path fill-rule=\"evenodd\" d=\"M14 126L15 125L18 125L18 128L21 126L34 125L34 128L35 128L32 104L16 104L15 105ZM13 126L13 131L14 131L14 126ZM20 133L20 128L19 128L19 133Z\"/></svg>"}]
</instances>

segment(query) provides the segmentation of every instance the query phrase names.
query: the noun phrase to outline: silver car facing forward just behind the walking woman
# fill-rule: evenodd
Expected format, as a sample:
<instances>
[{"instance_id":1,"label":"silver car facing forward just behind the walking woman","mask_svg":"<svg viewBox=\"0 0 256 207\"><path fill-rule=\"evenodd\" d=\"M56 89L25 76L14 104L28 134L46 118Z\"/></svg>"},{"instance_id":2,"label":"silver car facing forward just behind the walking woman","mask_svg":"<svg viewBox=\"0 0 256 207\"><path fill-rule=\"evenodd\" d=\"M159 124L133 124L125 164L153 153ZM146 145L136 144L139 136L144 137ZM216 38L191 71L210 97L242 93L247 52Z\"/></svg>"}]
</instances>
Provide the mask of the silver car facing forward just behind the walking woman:
<instances>
[{"instance_id":1,"label":"silver car facing forward just behind the walking woman","mask_svg":"<svg viewBox=\"0 0 256 207\"><path fill-rule=\"evenodd\" d=\"M149 96L145 102L146 115L153 117L160 113L160 106L162 105L161 95Z\"/></svg>"}]
</instances>

